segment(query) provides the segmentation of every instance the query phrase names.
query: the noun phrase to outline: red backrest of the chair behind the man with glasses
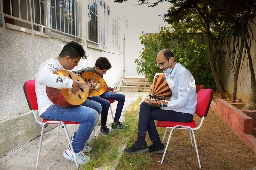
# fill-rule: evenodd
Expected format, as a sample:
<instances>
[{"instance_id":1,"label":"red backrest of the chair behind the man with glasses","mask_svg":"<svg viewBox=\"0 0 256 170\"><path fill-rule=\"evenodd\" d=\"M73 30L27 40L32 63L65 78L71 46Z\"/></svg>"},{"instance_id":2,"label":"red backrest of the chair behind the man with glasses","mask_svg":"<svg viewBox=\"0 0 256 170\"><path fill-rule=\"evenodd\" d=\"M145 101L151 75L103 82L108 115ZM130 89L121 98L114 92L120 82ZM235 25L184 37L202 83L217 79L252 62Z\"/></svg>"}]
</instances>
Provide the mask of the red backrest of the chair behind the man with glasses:
<instances>
[{"instance_id":1,"label":"red backrest of the chair behind the man with glasses","mask_svg":"<svg viewBox=\"0 0 256 170\"><path fill-rule=\"evenodd\" d=\"M199 117L207 116L212 98L213 98L213 91L210 88L201 89L197 93L197 104L196 104L195 113Z\"/></svg>"}]
</instances>

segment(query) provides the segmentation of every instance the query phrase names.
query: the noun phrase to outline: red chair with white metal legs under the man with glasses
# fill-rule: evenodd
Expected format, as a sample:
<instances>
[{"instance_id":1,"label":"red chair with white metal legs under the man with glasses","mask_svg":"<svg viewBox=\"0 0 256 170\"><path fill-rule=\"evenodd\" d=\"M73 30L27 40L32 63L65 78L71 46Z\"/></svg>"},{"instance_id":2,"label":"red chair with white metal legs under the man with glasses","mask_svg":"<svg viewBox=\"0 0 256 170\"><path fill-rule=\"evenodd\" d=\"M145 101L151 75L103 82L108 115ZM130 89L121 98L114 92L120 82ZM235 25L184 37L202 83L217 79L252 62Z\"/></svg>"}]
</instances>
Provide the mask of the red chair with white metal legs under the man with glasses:
<instances>
[{"instance_id":1,"label":"red chair with white metal legs under the man with glasses","mask_svg":"<svg viewBox=\"0 0 256 170\"><path fill-rule=\"evenodd\" d=\"M162 143L164 141L164 138L166 136L167 130L171 129L165 150L164 150L164 154L162 157L162 161L161 164L164 161L164 157L167 151L167 147L169 145L172 133L174 132L175 129L185 129L185 130L189 130L189 134L190 134L190 141L191 141L191 145L193 146L193 141L192 141L192 137L191 137L191 133L193 134L193 138L194 138L194 143L195 143L195 150L196 150L196 154L197 154L197 159L198 159L198 164L199 167L201 169L201 163L200 163L200 159L199 159L199 154L198 154L198 150L197 150L197 145L196 145L196 140L195 140L195 133L194 130L199 129L204 121L204 118L207 116L208 110L210 108L210 104L211 104L211 100L213 98L213 91L211 89L202 89L198 92L197 94L197 104L196 104L196 115L201 117L201 122L198 126L196 126L196 122L194 120L192 120L192 122L188 122L188 123L184 123L184 122L173 122L173 121L158 121L157 122L157 126L158 127L166 127L165 129L165 133L162 139Z\"/></svg>"}]
</instances>

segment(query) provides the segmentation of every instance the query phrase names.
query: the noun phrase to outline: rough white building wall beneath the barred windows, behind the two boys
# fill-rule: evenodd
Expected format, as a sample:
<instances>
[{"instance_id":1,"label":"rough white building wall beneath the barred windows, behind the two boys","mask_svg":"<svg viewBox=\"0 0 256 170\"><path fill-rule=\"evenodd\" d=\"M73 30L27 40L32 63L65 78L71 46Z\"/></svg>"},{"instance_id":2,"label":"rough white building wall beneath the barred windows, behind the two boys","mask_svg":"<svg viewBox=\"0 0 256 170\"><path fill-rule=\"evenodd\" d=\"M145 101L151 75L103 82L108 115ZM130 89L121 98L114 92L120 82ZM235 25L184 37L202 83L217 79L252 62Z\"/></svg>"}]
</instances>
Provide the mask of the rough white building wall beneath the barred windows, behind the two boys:
<instances>
[{"instance_id":1,"label":"rough white building wall beneath the barred windows, behind the two boys","mask_svg":"<svg viewBox=\"0 0 256 170\"><path fill-rule=\"evenodd\" d=\"M82 5L81 45L87 52L88 58L81 59L73 70L94 66L98 57L107 57L112 69L107 71L104 80L110 87L119 86L124 70L123 54L87 46L87 8L88 6ZM65 39L35 33L40 36L35 34L33 38L31 29L10 24L6 24L4 31L3 24L0 23L0 157L40 135L41 127L29 110L23 84L27 80L34 79L38 67L47 59L56 58L68 42ZM46 131L48 130L49 127L46 128Z\"/></svg>"}]
</instances>

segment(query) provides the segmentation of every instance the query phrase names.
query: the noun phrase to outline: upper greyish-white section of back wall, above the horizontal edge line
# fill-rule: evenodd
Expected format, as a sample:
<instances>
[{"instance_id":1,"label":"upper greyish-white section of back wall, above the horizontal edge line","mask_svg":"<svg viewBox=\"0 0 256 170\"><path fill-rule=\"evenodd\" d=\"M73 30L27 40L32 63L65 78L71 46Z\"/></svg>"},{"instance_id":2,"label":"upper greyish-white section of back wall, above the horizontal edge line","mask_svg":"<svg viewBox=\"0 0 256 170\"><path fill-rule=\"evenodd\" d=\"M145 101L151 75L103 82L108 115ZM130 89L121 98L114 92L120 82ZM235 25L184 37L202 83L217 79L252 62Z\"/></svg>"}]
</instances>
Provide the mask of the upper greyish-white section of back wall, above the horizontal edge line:
<instances>
[{"instance_id":1,"label":"upper greyish-white section of back wall, above the horizontal edge line","mask_svg":"<svg viewBox=\"0 0 256 170\"><path fill-rule=\"evenodd\" d=\"M171 6L163 2L156 7L138 5L137 0L128 0L118 4L118 14L123 20L122 31L124 34L159 33L161 26L169 26L163 21L163 15Z\"/></svg>"}]
</instances>

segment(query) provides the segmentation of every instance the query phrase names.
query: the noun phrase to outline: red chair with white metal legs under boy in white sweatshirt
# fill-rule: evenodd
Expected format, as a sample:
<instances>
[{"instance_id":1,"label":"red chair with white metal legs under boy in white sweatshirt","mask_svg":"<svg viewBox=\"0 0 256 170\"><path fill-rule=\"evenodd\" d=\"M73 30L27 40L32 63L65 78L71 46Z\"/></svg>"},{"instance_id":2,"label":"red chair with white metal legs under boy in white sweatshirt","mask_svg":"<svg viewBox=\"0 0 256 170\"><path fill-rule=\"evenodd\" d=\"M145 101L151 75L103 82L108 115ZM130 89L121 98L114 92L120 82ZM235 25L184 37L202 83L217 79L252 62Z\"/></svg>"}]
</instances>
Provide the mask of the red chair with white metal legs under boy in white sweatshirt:
<instances>
[{"instance_id":1,"label":"red chair with white metal legs under boy in white sweatshirt","mask_svg":"<svg viewBox=\"0 0 256 170\"><path fill-rule=\"evenodd\" d=\"M38 148L38 155L37 155L37 161L36 161L36 168L38 167L38 162L39 162L39 157L40 157L40 152L41 152L41 147L42 147L42 140L43 140L43 135L44 135L44 128L48 125L59 125L58 126L58 131L57 131L57 138L55 145L57 145L58 142L58 136L59 136L59 130L60 130L60 125L65 129L67 140L69 142L70 148L72 150L72 154L76 160L76 154L74 153L74 148L71 144L71 140L67 131L66 124L79 124L77 122L68 122L68 121L60 121L60 120L47 120L43 119L42 121L39 120L38 118L38 105L37 105L37 99L36 99L36 93L35 93L35 80L28 80L24 83L23 85L23 90L27 99L27 103L29 106L29 109L32 110L33 115L36 119L36 122L42 126L41 130L41 137L40 137L40 142L39 142L39 148ZM79 167L78 162L76 161L76 166L77 168Z\"/></svg>"}]
</instances>

